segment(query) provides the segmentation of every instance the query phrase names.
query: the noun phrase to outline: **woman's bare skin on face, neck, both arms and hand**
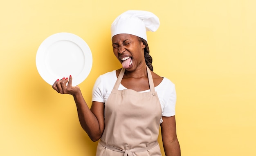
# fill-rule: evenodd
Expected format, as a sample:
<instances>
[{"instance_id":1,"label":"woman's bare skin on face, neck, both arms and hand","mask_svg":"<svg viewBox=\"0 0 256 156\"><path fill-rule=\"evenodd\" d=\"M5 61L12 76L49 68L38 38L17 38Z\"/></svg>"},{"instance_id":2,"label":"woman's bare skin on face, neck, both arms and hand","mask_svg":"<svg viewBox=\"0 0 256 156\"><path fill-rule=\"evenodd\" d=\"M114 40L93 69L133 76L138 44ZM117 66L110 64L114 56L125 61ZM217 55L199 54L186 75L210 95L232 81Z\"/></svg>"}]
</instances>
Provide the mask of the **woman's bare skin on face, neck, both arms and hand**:
<instances>
[{"instance_id":1,"label":"woman's bare skin on face, neck, both arms and hand","mask_svg":"<svg viewBox=\"0 0 256 156\"><path fill-rule=\"evenodd\" d=\"M144 59L145 45L137 36L130 34L118 34L112 38L113 52L122 63L125 57L132 58L132 63L126 68L121 84L135 91L149 89L146 62ZM121 69L116 71L117 76ZM155 87L159 85L163 78L151 71ZM67 86L66 83L68 82ZM85 102L81 90L78 86L72 86L72 76L56 80L52 87L60 94L71 94L76 103L79 121L92 141L101 138L104 131L104 103L92 102L91 108ZM166 156L180 156L180 145L176 135L175 116L165 117L161 123L162 140Z\"/></svg>"}]
</instances>

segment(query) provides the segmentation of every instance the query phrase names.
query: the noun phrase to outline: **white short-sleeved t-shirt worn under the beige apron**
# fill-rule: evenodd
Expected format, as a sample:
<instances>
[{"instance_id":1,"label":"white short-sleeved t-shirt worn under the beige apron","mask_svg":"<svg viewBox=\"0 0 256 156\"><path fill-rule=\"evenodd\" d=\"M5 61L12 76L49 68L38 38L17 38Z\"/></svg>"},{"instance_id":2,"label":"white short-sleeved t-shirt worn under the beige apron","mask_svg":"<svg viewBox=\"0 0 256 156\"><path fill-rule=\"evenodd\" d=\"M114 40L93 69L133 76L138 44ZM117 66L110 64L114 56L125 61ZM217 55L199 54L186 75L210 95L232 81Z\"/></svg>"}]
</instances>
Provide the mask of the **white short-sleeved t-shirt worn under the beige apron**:
<instances>
[{"instance_id":1,"label":"white short-sleeved t-shirt worn under the beige apron","mask_svg":"<svg viewBox=\"0 0 256 156\"><path fill-rule=\"evenodd\" d=\"M117 81L116 71L111 71L103 74L97 78L94 87L92 89L92 101L106 103L108 97ZM127 89L123 85L119 85L118 90ZM140 92L147 92L146 91ZM175 104L176 104L176 91L175 85L168 78L163 78L162 82L155 87L158 98L162 107L162 116L174 116ZM162 118L160 123L162 123Z\"/></svg>"}]
</instances>

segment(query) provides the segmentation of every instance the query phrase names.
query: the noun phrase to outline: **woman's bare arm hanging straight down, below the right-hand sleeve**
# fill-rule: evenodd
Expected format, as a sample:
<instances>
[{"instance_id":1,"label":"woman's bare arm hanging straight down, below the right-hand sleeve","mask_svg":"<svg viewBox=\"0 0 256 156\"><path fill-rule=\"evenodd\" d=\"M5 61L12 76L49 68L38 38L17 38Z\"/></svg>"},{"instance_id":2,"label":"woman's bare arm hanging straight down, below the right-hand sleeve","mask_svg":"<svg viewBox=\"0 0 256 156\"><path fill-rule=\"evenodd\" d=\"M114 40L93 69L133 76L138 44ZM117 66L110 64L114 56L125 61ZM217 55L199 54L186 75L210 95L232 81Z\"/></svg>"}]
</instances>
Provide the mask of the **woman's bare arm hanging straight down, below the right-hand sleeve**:
<instances>
[{"instance_id":1,"label":"woman's bare arm hanging straight down, below the right-hand sleeve","mask_svg":"<svg viewBox=\"0 0 256 156\"><path fill-rule=\"evenodd\" d=\"M180 144L176 134L175 116L162 116L162 140L166 156L180 156Z\"/></svg>"}]
</instances>

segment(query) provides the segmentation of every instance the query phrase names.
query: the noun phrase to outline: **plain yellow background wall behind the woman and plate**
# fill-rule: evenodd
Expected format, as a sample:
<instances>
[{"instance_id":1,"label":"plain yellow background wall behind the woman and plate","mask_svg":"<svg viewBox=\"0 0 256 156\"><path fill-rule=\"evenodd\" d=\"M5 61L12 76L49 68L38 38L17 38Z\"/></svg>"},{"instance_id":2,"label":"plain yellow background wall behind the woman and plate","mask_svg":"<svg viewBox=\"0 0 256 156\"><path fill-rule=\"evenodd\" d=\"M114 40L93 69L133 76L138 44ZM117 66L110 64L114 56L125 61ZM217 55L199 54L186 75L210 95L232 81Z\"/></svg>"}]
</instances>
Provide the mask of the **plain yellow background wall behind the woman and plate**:
<instances>
[{"instance_id":1,"label":"plain yellow background wall behind the woman and plate","mask_svg":"<svg viewBox=\"0 0 256 156\"><path fill-rule=\"evenodd\" d=\"M54 33L83 38L93 65L80 87L90 105L96 78L121 67L110 25L138 9L160 19L148 44L154 71L176 85L182 156L255 156L255 7L255 0L1 0L0 155L95 154L72 96L39 76L36 52Z\"/></svg>"}]
</instances>

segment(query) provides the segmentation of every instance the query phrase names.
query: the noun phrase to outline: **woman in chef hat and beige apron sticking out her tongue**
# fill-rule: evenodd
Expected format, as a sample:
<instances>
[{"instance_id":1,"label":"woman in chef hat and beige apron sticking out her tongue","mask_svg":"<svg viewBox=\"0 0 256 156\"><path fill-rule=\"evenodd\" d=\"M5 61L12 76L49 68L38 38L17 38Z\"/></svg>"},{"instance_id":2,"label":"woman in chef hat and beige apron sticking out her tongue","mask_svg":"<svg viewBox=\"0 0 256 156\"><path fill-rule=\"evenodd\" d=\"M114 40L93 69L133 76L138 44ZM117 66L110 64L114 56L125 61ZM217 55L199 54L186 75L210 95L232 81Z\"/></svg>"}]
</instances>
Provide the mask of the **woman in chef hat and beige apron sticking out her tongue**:
<instances>
[{"instance_id":1,"label":"woman in chef hat and beige apron sticking out her tongue","mask_svg":"<svg viewBox=\"0 0 256 156\"><path fill-rule=\"evenodd\" d=\"M81 126L92 141L101 139L97 156L161 156L159 123L166 156L180 156L175 86L153 72L147 44L146 31L158 27L159 19L148 11L126 11L115 19L112 46L123 68L99 76L91 109L72 76L52 86L74 97Z\"/></svg>"}]
</instances>

